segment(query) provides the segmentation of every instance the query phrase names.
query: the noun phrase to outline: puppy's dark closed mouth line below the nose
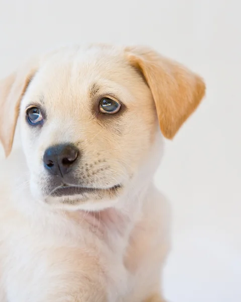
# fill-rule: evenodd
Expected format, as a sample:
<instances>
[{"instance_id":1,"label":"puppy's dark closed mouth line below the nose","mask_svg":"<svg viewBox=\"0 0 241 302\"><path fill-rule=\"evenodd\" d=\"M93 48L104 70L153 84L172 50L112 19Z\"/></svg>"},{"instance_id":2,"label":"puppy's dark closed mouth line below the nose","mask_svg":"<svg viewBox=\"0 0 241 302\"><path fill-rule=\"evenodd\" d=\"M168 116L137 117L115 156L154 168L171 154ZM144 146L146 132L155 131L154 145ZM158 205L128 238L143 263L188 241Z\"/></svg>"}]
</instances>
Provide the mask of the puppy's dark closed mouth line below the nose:
<instances>
[{"instance_id":1,"label":"puppy's dark closed mouth line below the nose","mask_svg":"<svg viewBox=\"0 0 241 302\"><path fill-rule=\"evenodd\" d=\"M118 189L121 188L121 185L116 185L110 188L101 189L101 188L87 188L79 186L60 186L54 189L51 193L51 197L62 197L62 196L72 196L72 195L84 195L86 193L101 193L101 192L110 192L117 193Z\"/></svg>"}]
</instances>

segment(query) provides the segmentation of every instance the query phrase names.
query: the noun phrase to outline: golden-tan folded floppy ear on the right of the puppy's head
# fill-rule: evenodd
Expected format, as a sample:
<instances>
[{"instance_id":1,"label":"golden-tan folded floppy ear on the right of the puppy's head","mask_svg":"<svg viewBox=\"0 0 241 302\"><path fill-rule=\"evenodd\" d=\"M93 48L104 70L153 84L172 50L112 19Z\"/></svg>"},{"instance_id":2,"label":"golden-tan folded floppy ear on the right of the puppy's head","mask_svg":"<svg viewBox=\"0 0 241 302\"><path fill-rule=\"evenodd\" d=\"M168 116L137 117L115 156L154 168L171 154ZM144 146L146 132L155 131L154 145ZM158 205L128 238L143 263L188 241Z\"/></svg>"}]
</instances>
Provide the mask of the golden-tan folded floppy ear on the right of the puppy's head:
<instances>
[{"instance_id":1,"label":"golden-tan folded floppy ear on the right of the puppy's head","mask_svg":"<svg viewBox=\"0 0 241 302\"><path fill-rule=\"evenodd\" d=\"M144 47L125 49L130 64L144 76L154 99L160 129L173 138L205 94L203 80L192 71Z\"/></svg>"}]
</instances>

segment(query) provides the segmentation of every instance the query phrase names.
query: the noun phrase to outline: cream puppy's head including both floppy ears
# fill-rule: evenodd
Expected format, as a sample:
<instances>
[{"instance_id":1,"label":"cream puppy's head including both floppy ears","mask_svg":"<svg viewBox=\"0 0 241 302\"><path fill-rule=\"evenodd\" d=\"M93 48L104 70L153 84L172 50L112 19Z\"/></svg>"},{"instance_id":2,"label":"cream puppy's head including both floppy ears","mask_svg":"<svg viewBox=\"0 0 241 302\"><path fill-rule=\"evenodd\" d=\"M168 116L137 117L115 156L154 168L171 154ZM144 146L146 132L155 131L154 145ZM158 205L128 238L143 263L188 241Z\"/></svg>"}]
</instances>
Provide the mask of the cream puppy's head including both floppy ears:
<instances>
[{"instance_id":1,"label":"cream puppy's head including both floppy ears","mask_svg":"<svg viewBox=\"0 0 241 302\"><path fill-rule=\"evenodd\" d=\"M158 125L173 138L204 91L196 74L149 49L63 48L0 82L0 138L8 156L20 116L32 193L100 209L148 182Z\"/></svg>"}]
</instances>

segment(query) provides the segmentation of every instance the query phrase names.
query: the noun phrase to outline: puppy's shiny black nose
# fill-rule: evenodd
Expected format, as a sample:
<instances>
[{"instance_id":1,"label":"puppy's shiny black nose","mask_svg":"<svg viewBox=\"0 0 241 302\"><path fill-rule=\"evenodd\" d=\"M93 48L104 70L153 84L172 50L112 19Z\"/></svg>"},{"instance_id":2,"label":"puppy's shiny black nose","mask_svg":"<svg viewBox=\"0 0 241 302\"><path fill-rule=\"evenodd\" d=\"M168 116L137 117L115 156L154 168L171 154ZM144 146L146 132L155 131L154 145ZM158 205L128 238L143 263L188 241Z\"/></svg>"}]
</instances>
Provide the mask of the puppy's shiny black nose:
<instances>
[{"instance_id":1,"label":"puppy's shiny black nose","mask_svg":"<svg viewBox=\"0 0 241 302\"><path fill-rule=\"evenodd\" d=\"M50 173L63 177L70 172L78 155L79 151L74 145L55 145L45 151L44 166Z\"/></svg>"}]
</instances>

